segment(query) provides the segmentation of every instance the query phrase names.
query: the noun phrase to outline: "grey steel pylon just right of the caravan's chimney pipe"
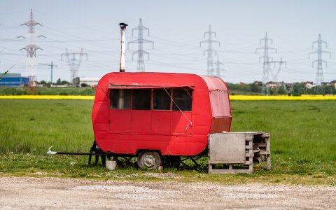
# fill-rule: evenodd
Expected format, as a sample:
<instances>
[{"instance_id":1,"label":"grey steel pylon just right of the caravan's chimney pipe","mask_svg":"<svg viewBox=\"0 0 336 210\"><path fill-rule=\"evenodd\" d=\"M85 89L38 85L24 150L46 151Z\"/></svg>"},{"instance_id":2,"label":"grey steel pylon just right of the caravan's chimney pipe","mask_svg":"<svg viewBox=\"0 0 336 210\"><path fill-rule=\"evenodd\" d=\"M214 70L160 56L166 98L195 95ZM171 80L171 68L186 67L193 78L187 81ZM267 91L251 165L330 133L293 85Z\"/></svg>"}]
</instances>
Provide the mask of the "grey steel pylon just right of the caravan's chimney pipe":
<instances>
[{"instance_id":1,"label":"grey steel pylon just right of the caravan's chimney pipe","mask_svg":"<svg viewBox=\"0 0 336 210\"><path fill-rule=\"evenodd\" d=\"M154 49L154 42L144 39L144 31L147 31L147 35L149 36L149 29L142 25L141 18L139 20L139 26L132 29L132 36L134 36L134 30L138 30L138 38L134 41L129 41L127 49L130 49L130 43L138 43L138 50L132 53L132 60L134 60L134 55L138 54L137 71L145 71L144 54L147 55L149 60L149 53L144 50L144 43L152 43L152 49Z\"/></svg>"}]
</instances>

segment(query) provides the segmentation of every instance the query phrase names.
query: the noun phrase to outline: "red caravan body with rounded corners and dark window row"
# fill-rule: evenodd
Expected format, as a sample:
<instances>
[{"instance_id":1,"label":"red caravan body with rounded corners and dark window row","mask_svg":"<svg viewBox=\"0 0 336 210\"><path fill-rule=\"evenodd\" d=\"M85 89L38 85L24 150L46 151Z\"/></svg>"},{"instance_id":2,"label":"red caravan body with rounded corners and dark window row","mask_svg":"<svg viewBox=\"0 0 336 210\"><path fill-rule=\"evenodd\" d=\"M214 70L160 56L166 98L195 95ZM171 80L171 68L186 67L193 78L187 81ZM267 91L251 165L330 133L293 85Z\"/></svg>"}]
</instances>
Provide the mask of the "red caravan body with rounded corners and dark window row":
<instances>
[{"instance_id":1,"label":"red caravan body with rounded corners and dark window row","mask_svg":"<svg viewBox=\"0 0 336 210\"><path fill-rule=\"evenodd\" d=\"M116 155L199 155L208 134L229 132L231 120L224 81L187 73L108 73L92 110L97 145Z\"/></svg>"}]
</instances>

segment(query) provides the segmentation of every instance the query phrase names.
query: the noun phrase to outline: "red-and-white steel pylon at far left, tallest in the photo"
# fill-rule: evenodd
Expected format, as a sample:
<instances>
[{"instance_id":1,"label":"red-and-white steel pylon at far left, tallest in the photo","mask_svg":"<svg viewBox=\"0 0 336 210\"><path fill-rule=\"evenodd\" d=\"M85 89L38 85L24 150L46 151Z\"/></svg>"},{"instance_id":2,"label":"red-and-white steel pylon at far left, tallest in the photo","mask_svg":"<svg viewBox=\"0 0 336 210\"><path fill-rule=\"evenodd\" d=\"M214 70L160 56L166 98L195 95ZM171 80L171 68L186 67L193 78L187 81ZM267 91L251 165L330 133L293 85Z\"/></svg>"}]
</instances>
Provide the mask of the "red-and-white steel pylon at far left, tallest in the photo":
<instances>
[{"instance_id":1,"label":"red-and-white steel pylon at far left, tallest in the photo","mask_svg":"<svg viewBox=\"0 0 336 210\"><path fill-rule=\"evenodd\" d=\"M43 49L38 48L38 46L36 46L34 44L35 26L36 25L41 25L41 24L34 20L33 9L30 10L29 21L23 23L22 25L26 25L28 27L28 34L26 35L27 37L26 36L18 36L18 38L20 38L20 37L21 38L27 38L28 39L28 45L26 45L25 48L22 48L20 50L26 50L27 51L27 73L28 73L28 77L29 77L29 83L30 83L30 85L35 85L35 82L37 80L36 50L43 50ZM41 35L41 36L37 36L37 37L45 37L45 36Z\"/></svg>"}]
</instances>

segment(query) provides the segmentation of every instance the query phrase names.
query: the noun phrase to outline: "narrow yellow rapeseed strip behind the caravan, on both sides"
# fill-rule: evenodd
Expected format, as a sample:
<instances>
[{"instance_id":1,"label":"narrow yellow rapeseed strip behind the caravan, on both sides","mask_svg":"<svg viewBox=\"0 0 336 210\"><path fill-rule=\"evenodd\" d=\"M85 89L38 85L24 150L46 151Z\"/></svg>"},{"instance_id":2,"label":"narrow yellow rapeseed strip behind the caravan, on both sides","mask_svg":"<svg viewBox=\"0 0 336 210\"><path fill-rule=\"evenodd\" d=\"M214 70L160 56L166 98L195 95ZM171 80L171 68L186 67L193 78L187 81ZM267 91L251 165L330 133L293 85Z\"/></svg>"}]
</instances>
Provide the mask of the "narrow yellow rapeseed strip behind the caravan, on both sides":
<instances>
[{"instance_id":1,"label":"narrow yellow rapeseed strip behind the caravan, on both sides","mask_svg":"<svg viewBox=\"0 0 336 210\"><path fill-rule=\"evenodd\" d=\"M6 95L0 96L0 99L79 99L79 100L93 100L94 96L80 96L80 95ZM232 101L292 101L292 100L336 100L336 95L311 95L305 94L299 97L288 95L230 95Z\"/></svg>"}]
</instances>

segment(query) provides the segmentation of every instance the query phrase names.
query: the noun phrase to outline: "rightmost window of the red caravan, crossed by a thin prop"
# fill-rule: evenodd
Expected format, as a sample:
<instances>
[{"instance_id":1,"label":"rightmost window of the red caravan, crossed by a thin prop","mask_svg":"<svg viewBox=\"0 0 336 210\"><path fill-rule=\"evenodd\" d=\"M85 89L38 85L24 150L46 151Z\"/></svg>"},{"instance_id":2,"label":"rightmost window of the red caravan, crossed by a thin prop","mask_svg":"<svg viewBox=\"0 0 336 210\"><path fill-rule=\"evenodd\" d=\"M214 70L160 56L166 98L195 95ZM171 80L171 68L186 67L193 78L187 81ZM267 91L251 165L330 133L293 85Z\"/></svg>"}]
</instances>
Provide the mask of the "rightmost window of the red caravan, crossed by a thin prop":
<instances>
[{"instance_id":1,"label":"rightmost window of the red caravan, crossed by a thin prop","mask_svg":"<svg viewBox=\"0 0 336 210\"><path fill-rule=\"evenodd\" d=\"M173 90L173 110L191 111L193 104L193 90Z\"/></svg>"}]
</instances>

